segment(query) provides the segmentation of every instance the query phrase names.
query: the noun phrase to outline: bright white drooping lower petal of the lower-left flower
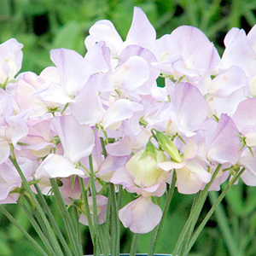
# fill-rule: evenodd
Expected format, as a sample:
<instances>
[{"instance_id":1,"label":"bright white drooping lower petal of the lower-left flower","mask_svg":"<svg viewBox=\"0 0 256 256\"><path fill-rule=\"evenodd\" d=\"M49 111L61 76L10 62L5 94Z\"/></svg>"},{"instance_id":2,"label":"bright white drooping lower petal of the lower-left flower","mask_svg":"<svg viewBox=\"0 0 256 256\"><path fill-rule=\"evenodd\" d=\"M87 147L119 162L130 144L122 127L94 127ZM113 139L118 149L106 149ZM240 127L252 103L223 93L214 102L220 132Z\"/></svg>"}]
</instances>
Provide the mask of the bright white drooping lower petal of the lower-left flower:
<instances>
[{"instance_id":1,"label":"bright white drooping lower petal of the lower-left flower","mask_svg":"<svg viewBox=\"0 0 256 256\"><path fill-rule=\"evenodd\" d=\"M75 168L75 164L71 160L60 154L49 154L36 171L38 178L69 177L71 175L84 177L84 172Z\"/></svg>"}]
</instances>

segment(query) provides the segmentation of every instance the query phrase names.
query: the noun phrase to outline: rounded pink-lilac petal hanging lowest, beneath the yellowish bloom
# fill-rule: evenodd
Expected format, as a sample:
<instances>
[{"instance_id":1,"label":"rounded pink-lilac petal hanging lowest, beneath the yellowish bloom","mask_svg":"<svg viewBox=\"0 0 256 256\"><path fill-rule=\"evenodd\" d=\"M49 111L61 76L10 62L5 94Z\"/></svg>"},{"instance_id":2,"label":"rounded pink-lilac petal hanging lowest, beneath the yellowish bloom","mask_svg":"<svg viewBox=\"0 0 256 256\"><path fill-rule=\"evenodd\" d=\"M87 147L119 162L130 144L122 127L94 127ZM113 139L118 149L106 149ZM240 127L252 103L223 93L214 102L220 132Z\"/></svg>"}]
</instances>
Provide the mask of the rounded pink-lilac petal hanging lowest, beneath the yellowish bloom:
<instances>
[{"instance_id":1,"label":"rounded pink-lilac petal hanging lowest, beneath the yellowish bloom","mask_svg":"<svg viewBox=\"0 0 256 256\"><path fill-rule=\"evenodd\" d=\"M160 223L162 212L150 197L139 197L119 210L119 219L131 232L145 234Z\"/></svg>"}]
</instances>

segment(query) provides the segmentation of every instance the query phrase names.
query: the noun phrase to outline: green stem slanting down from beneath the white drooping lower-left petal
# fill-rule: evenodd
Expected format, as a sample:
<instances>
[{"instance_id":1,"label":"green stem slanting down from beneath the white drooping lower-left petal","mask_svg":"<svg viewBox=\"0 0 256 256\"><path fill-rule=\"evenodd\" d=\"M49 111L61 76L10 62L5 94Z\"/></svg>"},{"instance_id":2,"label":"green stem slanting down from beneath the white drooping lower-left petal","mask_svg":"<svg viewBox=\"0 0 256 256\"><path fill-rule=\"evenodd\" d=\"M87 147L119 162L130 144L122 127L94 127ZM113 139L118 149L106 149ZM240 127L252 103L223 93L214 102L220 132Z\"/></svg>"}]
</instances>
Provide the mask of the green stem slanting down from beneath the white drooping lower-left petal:
<instances>
[{"instance_id":1,"label":"green stem slanting down from beneath the white drooping lower-left petal","mask_svg":"<svg viewBox=\"0 0 256 256\"><path fill-rule=\"evenodd\" d=\"M67 236L68 236L69 240L71 241L71 244L72 244L72 247L73 247L73 253L74 253L75 256L80 256L78 247L81 246L81 245L78 245L77 242L76 242L76 239L75 239L76 236L75 236L75 233L74 233L73 222L72 222L72 219L70 217L69 212L67 211L66 204L63 201L63 198L61 196L61 192L58 188L58 185L55 181L55 178L50 178L49 181L50 181L52 190L54 192L56 201L58 203L58 206L61 210L62 219L63 219L64 224L65 224L66 229L67 229Z\"/></svg>"}]
</instances>

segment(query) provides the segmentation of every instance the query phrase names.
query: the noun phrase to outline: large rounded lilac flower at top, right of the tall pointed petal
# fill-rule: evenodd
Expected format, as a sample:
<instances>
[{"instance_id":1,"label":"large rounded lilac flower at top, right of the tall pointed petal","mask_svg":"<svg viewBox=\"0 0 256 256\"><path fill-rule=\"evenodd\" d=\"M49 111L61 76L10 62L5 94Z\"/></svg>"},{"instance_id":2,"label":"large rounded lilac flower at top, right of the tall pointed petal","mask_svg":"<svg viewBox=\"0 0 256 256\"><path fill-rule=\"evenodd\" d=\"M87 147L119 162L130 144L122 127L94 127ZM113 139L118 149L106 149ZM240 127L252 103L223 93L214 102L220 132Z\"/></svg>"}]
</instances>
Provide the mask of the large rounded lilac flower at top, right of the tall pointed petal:
<instances>
[{"instance_id":1,"label":"large rounded lilac flower at top, right of the tall pointed petal","mask_svg":"<svg viewBox=\"0 0 256 256\"><path fill-rule=\"evenodd\" d=\"M183 76L199 79L218 65L218 51L206 35L193 26L179 26L171 35L160 38L155 46L163 73L171 73L175 79ZM171 68L170 68L171 67Z\"/></svg>"}]
</instances>

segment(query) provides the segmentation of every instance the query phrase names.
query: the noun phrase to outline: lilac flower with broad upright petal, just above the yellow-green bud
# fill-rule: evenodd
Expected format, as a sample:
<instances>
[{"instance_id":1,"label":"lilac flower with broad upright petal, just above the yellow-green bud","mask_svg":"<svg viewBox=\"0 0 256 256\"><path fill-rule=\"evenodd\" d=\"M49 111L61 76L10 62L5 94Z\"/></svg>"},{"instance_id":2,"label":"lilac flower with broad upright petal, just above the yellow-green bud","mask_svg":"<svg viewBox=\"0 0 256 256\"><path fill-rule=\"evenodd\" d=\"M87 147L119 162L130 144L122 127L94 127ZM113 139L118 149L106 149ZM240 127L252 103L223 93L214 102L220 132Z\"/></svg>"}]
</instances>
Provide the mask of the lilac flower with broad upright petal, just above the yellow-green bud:
<instances>
[{"instance_id":1,"label":"lilac flower with broad upright petal, just above the yellow-green bud","mask_svg":"<svg viewBox=\"0 0 256 256\"><path fill-rule=\"evenodd\" d=\"M166 121L168 135L176 133L186 137L195 136L201 124L207 119L208 104L201 92L192 84L170 84L168 93L171 102L164 102L154 119L147 119L155 125Z\"/></svg>"}]
</instances>

